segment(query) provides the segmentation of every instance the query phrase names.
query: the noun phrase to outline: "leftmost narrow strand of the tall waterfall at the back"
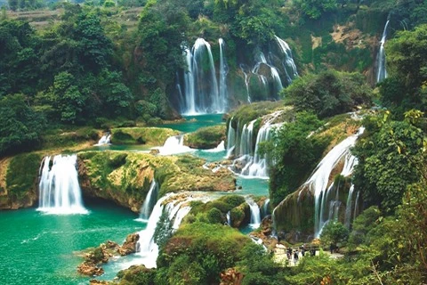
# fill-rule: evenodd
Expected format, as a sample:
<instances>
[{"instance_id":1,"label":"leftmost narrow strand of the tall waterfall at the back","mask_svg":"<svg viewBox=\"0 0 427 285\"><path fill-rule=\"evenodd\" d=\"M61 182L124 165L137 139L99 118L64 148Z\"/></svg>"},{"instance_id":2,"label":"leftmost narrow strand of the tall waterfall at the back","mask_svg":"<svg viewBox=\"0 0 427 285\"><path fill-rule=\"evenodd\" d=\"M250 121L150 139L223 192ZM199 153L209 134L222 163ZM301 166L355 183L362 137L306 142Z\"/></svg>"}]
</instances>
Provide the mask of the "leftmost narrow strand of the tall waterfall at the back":
<instances>
[{"instance_id":1,"label":"leftmost narrow strand of the tall waterfall at the back","mask_svg":"<svg viewBox=\"0 0 427 285\"><path fill-rule=\"evenodd\" d=\"M193 76L193 55L189 51L189 48L184 50L184 55L185 62L187 64L187 70L184 72L185 106L183 107L183 113L194 115L197 114L197 112Z\"/></svg>"}]
</instances>

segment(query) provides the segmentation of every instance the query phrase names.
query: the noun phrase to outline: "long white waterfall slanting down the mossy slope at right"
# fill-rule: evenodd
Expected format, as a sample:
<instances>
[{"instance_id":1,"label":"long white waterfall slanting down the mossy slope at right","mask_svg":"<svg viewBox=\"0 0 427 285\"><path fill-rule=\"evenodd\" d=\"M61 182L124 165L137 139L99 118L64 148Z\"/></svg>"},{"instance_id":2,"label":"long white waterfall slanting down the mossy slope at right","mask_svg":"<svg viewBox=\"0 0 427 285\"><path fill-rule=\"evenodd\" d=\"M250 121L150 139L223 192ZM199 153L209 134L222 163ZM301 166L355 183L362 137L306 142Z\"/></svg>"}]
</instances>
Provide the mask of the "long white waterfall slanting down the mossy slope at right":
<instances>
[{"instance_id":1,"label":"long white waterfall slanting down the mossy slope at right","mask_svg":"<svg viewBox=\"0 0 427 285\"><path fill-rule=\"evenodd\" d=\"M325 158L318 163L318 166L308 181L304 183L304 185L309 186L310 191L315 196L315 237L320 235L324 224L327 222L324 219L324 213L326 213L328 196L331 194L330 191L334 189L333 184L327 188L329 176L334 167L342 159L345 159L342 175L350 175L350 170L352 170L357 163L357 159L350 155L350 148L355 144L363 131L364 128L360 127L358 134L350 135L348 138L335 145L334 149L329 151Z\"/></svg>"}]
</instances>

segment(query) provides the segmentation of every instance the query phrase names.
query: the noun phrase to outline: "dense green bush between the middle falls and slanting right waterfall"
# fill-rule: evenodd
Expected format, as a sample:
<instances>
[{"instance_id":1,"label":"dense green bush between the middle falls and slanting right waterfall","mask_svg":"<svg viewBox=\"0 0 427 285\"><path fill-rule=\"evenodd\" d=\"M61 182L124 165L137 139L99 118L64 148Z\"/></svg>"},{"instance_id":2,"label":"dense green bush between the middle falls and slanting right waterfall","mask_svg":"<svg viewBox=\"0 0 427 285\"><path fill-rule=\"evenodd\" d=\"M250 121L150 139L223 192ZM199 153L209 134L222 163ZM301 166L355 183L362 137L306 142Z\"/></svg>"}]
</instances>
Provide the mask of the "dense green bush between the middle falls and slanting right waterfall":
<instances>
[{"instance_id":1,"label":"dense green bush between the middle falls and slanting right waterfall","mask_svg":"<svg viewBox=\"0 0 427 285\"><path fill-rule=\"evenodd\" d=\"M293 123L282 126L266 145L275 165L270 170L270 199L272 205L296 190L316 166L329 142L327 137L309 136L322 126L315 115L298 113Z\"/></svg>"}]
</instances>

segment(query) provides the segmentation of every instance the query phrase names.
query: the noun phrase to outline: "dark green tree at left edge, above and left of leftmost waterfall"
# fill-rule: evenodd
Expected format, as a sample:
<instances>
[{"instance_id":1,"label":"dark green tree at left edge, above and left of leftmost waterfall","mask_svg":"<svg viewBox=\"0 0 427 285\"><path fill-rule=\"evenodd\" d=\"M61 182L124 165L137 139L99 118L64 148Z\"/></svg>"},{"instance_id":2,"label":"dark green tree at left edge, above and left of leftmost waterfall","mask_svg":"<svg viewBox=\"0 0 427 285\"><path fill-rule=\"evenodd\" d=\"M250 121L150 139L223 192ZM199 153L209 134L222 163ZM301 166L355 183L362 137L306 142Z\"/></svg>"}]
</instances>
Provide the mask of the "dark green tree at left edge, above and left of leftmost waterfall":
<instances>
[{"instance_id":1,"label":"dark green tree at left edge, above and left of leftmost waterfall","mask_svg":"<svg viewBox=\"0 0 427 285\"><path fill-rule=\"evenodd\" d=\"M33 149L40 142L44 118L22 94L0 99L0 156Z\"/></svg>"}]
</instances>

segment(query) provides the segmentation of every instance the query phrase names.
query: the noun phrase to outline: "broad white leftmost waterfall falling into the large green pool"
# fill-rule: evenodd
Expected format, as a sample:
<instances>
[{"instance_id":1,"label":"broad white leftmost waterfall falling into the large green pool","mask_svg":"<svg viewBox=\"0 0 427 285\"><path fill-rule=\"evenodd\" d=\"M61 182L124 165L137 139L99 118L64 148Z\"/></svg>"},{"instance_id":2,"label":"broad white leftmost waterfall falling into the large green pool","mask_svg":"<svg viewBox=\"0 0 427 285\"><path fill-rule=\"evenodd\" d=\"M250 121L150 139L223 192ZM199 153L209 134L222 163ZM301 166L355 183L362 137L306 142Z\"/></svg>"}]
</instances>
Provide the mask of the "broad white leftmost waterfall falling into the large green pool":
<instances>
[{"instance_id":1,"label":"broad white leftmost waterfall falling into the large green pool","mask_svg":"<svg viewBox=\"0 0 427 285\"><path fill-rule=\"evenodd\" d=\"M39 206L48 214L87 214L77 175L77 155L45 157L40 177Z\"/></svg>"}]
</instances>

